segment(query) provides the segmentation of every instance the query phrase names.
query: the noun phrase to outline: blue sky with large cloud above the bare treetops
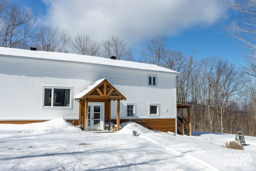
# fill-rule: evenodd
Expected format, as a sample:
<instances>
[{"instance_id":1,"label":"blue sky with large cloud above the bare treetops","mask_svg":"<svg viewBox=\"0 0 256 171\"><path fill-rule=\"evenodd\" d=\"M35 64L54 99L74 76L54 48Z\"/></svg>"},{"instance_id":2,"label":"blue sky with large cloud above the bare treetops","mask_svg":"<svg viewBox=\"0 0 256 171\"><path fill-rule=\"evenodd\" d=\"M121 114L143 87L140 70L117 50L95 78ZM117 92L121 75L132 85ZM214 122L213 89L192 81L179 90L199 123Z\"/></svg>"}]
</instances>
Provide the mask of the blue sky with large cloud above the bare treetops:
<instances>
[{"instance_id":1,"label":"blue sky with large cloud above the bare treetops","mask_svg":"<svg viewBox=\"0 0 256 171\"><path fill-rule=\"evenodd\" d=\"M226 35L236 13L215 0L11 0L32 10L38 23L51 24L71 35L88 34L95 40L118 36L134 57L144 42L157 34L168 37L168 47L196 59L219 56L235 65L246 65L241 49Z\"/></svg>"}]
</instances>

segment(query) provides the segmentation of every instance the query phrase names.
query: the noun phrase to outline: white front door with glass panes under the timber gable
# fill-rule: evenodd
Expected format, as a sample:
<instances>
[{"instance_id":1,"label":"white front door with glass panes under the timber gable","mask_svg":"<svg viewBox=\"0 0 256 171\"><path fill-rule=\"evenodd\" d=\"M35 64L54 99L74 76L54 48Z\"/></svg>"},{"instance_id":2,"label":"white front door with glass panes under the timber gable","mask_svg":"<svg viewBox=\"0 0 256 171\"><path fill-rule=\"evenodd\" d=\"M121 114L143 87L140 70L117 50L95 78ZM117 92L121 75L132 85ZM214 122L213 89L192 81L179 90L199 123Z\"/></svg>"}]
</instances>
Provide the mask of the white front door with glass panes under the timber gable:
<instances>
[{"instance_id":1,"label":"white front door with glass panes under the timber gable","mask_svg":"<svg viewBox=\"0 0 256 171\"><path fill-rule=\"evenodd\" d=\"M88 103L87 130L104 130L104 102Z\"/></svg>"}]
</instances>

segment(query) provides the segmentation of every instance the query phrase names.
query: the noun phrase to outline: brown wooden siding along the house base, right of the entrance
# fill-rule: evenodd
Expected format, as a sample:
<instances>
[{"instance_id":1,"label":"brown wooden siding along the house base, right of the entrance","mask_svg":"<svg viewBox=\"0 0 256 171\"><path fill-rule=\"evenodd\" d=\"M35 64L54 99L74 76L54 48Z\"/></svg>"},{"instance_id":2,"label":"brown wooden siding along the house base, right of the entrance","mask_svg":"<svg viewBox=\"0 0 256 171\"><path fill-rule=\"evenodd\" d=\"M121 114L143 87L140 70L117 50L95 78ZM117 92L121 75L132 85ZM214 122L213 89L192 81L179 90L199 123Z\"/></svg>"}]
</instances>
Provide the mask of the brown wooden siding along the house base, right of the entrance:
<instances>
[{"instance_id":1,"label":"brown wooden siding along the house base, right of the entrance","mask_svg":"<svg viewBox=\"0 0 256 171\"><path fill-rule=\"evenodd\" d=\"M113 123L116 123L116 120L111 120ZM136 122L141 126L150 129L150 130L157 130L161 132L168 132L171 131L176 133L175 127L175 119L120 119L120 123L123 122Z\"/></svg>"}]
</instances>

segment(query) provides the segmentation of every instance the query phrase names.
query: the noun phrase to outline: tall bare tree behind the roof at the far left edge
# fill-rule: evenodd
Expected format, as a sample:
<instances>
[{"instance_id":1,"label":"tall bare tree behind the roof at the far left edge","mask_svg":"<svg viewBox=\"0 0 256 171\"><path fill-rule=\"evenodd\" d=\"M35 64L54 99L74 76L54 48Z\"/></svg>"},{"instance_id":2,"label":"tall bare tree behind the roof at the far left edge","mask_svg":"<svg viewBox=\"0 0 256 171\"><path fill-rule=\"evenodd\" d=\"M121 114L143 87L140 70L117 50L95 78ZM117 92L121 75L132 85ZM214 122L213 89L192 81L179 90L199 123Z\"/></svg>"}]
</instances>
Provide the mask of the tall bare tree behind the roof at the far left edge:
<instances>
[{"instance_id":1,"label":"tall bare tree behind the roof at the far left edge","mask_svg":"<svg viewBox=\"0 0 256 171\"><path fill-rule=\"evenodd\" d=\"M36 20L30 10L17 4L0 1L0 46L9 48L26 47L35 35Z\"/></svg>"}]
</instances>

